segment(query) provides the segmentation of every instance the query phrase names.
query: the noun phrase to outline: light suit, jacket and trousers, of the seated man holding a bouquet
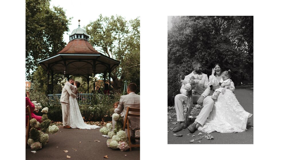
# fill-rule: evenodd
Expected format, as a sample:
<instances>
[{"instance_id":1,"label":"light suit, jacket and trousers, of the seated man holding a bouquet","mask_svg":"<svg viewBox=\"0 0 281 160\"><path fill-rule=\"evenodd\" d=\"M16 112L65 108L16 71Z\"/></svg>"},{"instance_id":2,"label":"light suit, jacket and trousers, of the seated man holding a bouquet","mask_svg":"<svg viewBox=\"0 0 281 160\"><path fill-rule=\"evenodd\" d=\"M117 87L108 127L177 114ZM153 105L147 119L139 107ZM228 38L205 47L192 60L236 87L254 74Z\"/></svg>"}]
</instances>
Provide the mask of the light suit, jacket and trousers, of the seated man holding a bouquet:
<instances>
[{"instance_id":1,"label":"light suit, jacket and trousers, of the seated man holding a bouquet","mask_svg":"<svg viewBox=\"0 0 281 160\"><path fill-rule=\"evenodd\" d=\"M213 109L214 101L211 97L209 97L210 93L210 83L209 79L206 74L201 73L203 75L202 79L199 81L199 84L197 85L195 90L192 90L192 101L193 103L196 103L197 100L201 95L204 95L203 97L203 108L200 111L198 117L195 119L196 122L198 122L200 125L204 125L206 119L208 118L210 112ZM188 76L194 75L193 71L189 75L187 75L184 79L186 79ZM182 85L180 89L180 93L175 96L175 110L177 113L177 121L185 121L184 119L184 106L183 103L187 99L186 95L186 89L184 89L184 85Z\"/></svg>"}]
</instances>

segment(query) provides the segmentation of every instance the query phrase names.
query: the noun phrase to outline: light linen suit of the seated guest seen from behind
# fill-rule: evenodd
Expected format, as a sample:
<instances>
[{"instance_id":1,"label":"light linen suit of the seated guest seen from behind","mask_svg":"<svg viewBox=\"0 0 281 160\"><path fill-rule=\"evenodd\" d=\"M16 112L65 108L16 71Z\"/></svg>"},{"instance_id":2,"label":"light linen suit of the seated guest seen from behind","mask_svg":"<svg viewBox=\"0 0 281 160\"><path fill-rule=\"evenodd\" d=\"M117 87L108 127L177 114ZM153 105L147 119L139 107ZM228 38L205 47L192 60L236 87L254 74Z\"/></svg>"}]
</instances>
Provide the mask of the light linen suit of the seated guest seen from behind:
<instances>
[{"instance_id":1,"label":"light linen suit of the seated guest seen from behind","mask_svg":"<svg viewBox=\"0 0 281 160\"><path fill-rule=\"evenodd\" d=\"M127 108L140 108L140 95L137 95L134 92L129 93L128 95L122 95L118 107L114 109L114 113L122 113L122 124L124 124ZM134 112L132 112L134 113ZM139 114L139 112L136 112L136 114ZM115 123L112 119L112 128L115 128ZM130 124L130 135L132 137L135 136L135 130L140 129L140 117L129 117L129 124Z\"/></svg>"}]
</instances>

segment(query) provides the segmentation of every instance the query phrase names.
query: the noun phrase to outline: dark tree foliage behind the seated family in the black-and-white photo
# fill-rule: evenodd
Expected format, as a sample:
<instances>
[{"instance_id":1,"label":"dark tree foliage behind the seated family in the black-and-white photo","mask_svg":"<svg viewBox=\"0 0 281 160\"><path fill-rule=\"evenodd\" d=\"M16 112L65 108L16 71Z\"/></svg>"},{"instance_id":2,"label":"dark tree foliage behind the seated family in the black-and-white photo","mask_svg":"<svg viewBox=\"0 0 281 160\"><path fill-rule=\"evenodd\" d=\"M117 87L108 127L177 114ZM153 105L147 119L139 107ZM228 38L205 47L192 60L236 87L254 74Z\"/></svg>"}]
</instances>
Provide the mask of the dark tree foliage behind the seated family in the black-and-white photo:
<instances>
[{"instance_id":1,"label":"dark tree foliage behind the seated family in the black-and-white photo","mask_svg":"<svg viewBox=\"0 0 281 160\"><path fill-rule=\"evenodd\" d=\"M173 105L192 62L210 75L216 63L232 70L232 80L253 80L253 16L178 16L168 31L168 104Z\"/></svg>"}]
</instances>

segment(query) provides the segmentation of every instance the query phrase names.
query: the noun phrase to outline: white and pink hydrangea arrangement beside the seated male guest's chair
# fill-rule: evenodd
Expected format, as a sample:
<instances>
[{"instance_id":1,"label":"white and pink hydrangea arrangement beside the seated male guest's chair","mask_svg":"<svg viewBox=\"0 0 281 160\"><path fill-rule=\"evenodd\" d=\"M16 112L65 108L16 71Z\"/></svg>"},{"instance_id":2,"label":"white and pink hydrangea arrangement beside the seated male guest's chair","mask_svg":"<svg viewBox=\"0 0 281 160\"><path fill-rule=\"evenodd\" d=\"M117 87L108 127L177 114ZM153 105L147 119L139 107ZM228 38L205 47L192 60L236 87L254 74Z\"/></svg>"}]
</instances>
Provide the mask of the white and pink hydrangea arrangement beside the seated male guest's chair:
<instances>
[{"instance_id":1,"label":"white and pink hydrangea arrangement beside the seated male guest's chair","mask_svg":"<svg viewBox=\"0 0 281 160\"><path fill-rule=\"evenodd\" d=\"M99 131L108 136L109 139L106 141L107 147L120 149L120 151L127 151L129 149L128 138L126 132L122 130L122 117L117 113L114 113L112 119L116 121L114 131L111 131L111 123L107 123L106 127L102 127Z\"/></svg>"}]
</instances>

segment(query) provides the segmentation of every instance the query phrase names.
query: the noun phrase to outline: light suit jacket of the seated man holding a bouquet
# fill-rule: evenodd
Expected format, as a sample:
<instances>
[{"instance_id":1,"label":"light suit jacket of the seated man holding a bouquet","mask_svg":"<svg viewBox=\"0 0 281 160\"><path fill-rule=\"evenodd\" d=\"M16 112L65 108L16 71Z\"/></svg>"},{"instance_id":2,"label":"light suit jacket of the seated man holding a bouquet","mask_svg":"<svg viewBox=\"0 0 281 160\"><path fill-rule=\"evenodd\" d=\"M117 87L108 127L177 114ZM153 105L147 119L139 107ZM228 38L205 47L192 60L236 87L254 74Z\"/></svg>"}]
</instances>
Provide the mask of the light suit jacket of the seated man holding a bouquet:
<instances>
[{"instance_id":1,"label":"light suit jacket of the seated man holding a bouquet","mask_svg":"<svg viewBox=\"0 0 281 160\"><path fill-rule=\"evenodd\" d=\"M201 74L203 75L202 79L199 81L199 84L197 85L196 89L192 90L192 91L195 91L195 92L197 91L197 93L199 93L200 95L204 95L206 97L210 93L210 83L209 83L208 76L204 73L201 73ZM187 79L187 77L192 76L192 75L194 75L193 71L189 75L185 76L184 79ZM184 85L182 85L180 92L182 94L186 94L186 89L184 89Z\"/></svg>"}]
</instances>

